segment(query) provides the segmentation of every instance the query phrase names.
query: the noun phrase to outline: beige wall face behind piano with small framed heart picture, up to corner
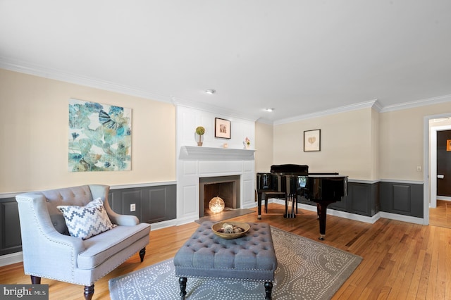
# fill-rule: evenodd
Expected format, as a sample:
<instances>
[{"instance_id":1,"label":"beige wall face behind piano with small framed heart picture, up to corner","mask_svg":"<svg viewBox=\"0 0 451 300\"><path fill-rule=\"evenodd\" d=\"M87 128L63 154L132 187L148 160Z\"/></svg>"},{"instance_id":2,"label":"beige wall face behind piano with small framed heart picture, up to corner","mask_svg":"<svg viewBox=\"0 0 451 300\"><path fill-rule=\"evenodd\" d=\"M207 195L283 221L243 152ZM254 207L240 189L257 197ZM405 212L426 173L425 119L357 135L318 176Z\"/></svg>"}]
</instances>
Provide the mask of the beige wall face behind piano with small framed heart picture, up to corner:
<instances>
[{"instance_id":1,"label":"beige wall face behind piano with small framed heart picture, up to corner","mask_svg":"<svg viewBox=\"0 0 451 300\"><path fill-rule=\"evenodd\" d=\"M371 108L274 126L274 163L309 165L309 172L338 172L375 180ZM304 131L321 129L321 151L304 152Z\"/></svg>"}]
</instances>

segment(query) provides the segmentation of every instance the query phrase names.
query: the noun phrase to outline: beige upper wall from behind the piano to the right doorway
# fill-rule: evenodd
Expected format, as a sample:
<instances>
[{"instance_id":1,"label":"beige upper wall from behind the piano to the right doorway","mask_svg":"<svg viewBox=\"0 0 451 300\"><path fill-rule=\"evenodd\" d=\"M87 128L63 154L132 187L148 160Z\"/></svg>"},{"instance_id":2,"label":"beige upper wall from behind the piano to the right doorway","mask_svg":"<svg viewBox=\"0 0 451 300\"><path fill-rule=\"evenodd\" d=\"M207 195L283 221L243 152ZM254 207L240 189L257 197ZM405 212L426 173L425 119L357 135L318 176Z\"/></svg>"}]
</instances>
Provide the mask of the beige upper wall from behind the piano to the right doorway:
<instances>
[{"instance_id":1,"label":"beige upper wall from behind the piano to the right doorway","mask_svg":"<svg viewBox=\"0 0 451 300\"><path fill-rule=\"evenodd\" d=\"M416 168L424 170L424 117L447 113L451 101L385 113L364 108L275 125L272 163L307 164L311 173L338 172L354 180L423 181L423 171ZM303 132L315 129L321 129L321 151L304 152Z\"/></svg>"}]
</instances>

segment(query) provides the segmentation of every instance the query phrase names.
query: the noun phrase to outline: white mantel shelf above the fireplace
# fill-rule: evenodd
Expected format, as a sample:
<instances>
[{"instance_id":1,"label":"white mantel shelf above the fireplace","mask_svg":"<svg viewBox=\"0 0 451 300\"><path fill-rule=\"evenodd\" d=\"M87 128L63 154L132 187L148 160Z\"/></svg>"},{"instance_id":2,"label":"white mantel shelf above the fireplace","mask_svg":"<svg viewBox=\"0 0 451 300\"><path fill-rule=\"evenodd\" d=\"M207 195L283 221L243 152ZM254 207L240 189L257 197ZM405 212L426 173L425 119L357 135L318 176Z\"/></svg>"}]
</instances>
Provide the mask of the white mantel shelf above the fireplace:
<instances>
[{"instance_id":1,"label":"white mantel shelf above the fireplace","mask_svg":"<svg viewBox=\"0 0 451 300\"><path fill-rule=\"evenodd\" d=\"M253 149L213 148L203 146L181 146L180 159L202 161L245 160L254 161Z\"/></svg>"}]
</instances>

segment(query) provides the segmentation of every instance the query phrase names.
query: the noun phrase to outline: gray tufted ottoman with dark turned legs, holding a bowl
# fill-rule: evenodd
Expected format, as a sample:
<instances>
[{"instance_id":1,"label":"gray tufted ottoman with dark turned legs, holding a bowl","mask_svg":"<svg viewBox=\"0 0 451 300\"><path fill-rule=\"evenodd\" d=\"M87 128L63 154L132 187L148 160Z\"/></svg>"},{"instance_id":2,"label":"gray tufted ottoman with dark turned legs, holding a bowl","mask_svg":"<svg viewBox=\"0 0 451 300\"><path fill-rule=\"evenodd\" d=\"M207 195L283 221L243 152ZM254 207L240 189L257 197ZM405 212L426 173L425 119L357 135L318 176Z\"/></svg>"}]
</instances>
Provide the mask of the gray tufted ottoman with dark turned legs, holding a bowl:
<instances>
[{"instance_id":1,"label":"gray tufted ottoman with dark turned legs, holding a bowl","mask_svg":"<svg viewBox=\"0 0 451 300\"><path fill-rule=\"evenodd\" d=\"M265 299L271 299L277 258L269 225L249 223L247 235L237 239L218 237L211 225L202 223L175 254L181 298L185 299L187 277L214 277L261 280Z\"/></svg>"}]
</instances>

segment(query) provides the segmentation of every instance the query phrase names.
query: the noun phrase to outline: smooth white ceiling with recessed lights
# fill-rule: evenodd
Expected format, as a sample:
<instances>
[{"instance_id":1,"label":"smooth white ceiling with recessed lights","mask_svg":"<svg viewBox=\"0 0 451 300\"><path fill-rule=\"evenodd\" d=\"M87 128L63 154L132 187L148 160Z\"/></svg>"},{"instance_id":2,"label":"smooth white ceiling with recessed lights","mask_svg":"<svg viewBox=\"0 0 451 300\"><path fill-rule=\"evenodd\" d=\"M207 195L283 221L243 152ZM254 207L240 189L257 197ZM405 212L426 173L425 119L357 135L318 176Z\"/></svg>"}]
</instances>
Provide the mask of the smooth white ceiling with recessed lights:
<instances>
[{"instance_id":1,"label":"smooth white ceiling with recessed lights","mask_svg":"<svg viewBox=\"0 0 451 300\"><path fill-rule=\"evenodd\" d=\"M268 123L386 109L451 95L451 1L0 0L0 68Z\"/></svg>"}]
</instances>

